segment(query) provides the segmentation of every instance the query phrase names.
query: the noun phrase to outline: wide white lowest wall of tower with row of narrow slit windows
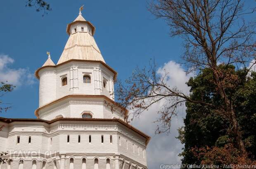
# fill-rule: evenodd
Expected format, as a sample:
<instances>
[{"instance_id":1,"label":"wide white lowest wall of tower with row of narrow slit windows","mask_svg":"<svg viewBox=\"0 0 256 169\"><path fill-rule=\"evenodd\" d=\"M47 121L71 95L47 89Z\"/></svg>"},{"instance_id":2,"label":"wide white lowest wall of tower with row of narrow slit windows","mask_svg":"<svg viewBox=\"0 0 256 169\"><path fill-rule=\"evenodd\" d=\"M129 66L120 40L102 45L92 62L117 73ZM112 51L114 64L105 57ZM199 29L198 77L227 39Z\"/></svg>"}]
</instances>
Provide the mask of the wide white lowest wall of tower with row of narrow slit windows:
<instances>
[{"instance_id":1,"label":"wide white lowest wall of tower with row of narrow slit windows","mask_svg":"<svg viewBox=\"0 0 256 169\"><path fill-rule=\"evenodd\" d=\"M8 131L7 144L2 144L0 151L11 152L12 169L19 168L21 159L24 160L23 169L31 169L33 159L37 162L37 169L42 168L43 161L46 161L46 169L54 169L54 160L58 169L69 169L71 157L74 158L74 169L81 168L83 157L86 158L87 169L94 168L95 158L99 159L99 169L106 168L107 158L110 159L111 169L119 169L123 160L127 163L125 169L130 163L134 168L135 166L139 169L146 168L146 156L143 157L142 153L139 155L136 151L133 153L132 148L133 143L139 146L140 150L145 149L145 138L119 123L57 121L49 125L42 122L12 122L5 124L0 135L6 135L6 131ZM69 143L67 135L69 135ZM80 143L78 143L78 135L81 136ZM91 143L89 143L89 135L91 135ZM112 143L110 143L110 135L112 135ZM19 144L17 144L17 136L20 137ZM126 140L129 141L128 149ZM2 164L1 169L7 169L7 164Z\"/></svg>"}]
</instances>

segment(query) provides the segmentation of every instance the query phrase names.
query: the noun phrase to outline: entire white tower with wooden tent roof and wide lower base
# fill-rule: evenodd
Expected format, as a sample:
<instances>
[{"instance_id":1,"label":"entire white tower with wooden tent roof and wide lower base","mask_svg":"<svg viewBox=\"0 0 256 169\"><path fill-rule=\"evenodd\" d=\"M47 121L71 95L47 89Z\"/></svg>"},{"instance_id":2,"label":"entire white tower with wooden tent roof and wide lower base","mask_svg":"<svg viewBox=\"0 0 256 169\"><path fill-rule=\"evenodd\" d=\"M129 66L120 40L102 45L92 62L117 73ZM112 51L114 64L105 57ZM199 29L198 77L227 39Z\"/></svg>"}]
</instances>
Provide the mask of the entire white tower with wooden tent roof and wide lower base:
<instances>
[{"instance_id":1,"label":"entire white tower with wooden tent roof and wide lower base","mask_svg":"<svg viewBox=\"0 0 256 169\"><path fill-rule=\"evenodd\" d=\"M150 137L128 125L114 101L117 73L104 61L95 27L81 11L67 25L58 63L50 53L36 70L37 118L0 118L0 169L147 169ZM113 109L114 107L114 109Z\"/></svg>"}]
</instances>

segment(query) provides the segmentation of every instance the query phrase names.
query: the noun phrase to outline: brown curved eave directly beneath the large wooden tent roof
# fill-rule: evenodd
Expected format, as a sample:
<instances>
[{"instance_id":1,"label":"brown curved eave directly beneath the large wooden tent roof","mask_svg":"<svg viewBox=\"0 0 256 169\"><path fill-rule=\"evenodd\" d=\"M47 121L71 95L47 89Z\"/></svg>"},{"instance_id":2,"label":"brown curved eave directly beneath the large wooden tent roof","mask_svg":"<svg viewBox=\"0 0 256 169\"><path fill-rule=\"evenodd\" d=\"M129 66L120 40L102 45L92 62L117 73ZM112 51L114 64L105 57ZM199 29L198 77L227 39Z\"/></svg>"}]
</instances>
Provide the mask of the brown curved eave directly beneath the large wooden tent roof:
<instances>
[{"instance_id":1,"label":"brown curved eave directly beneath the large wooden tent roof","mask_svg":"<svg viewBox=\"0 0 256 169\"><path fill-rule=\"evenodd\" d=\"M60 63L60 64L58 64L58 65L55 65L55 66L50 66L50 65L49 65L49 66L40 67L40 68L38 68L38 69L36 70L35 76L36 76L37 79L40 79L40 77L39 77L39 75L38 75L38 72L39 72L41 69L44 69L44 68L47 68L47 67L54 67L54 68L56 68L56 67L59 67L59 66L61 66L61 65L64 65L64 64L69 63L69 62L72 62L72 61L77 61L77 62L90 62L90 63L101 63L102 65L104 65L105 67L107 67L111 72L114 73L114 77L113 77L114 81L115 81L115 79L116 79L117 72L116 72L114 69L112 69L110 66L108 66L106 63L102 62L101 60L80 60L80 59L71 59L71 60L68 60L68 61L66 61L66 62Z\"/></svg>"}]
</instances>

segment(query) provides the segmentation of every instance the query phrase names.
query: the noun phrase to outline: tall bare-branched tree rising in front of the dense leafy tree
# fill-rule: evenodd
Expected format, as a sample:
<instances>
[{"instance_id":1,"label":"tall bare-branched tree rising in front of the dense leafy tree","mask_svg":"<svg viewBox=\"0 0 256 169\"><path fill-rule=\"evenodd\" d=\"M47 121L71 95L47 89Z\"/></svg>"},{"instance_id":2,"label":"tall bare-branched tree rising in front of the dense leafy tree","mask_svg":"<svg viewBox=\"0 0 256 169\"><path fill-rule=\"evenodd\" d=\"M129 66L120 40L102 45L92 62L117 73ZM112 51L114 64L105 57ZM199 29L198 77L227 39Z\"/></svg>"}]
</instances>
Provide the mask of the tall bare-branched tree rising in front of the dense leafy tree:
<instances>
[{"instance_id":1,"label":"tall bare-branched tree rising in front of the dense leafy tree","mask_svg":"<svg viewBox=\"0 0 256 169\"><path fill-rule=\"evenodd\" d=\"M245 21L244 16L253 14L255 7L244 7L243 0L155 0L150 7L158 18L165 19L172 36L184 39L184 53L181 57L188 72L197 74L207 68L211 71L211 86L216 92L214 100L205 100L203 95L192 99L178 87L168 86L165 76L158 76L154 64L149 69L136 69L126 84L119 83L116 94L121 104L133 110L133 115L149 109L152 104L165 101L163 109L158 111L162 123L159 133L169 131L171 118L177 114L178 107L189 102L215 110L211 112L212 125L218 118L223 119L226 132L234 139L240 155L247 157L243 133L239 126L239 109L233 96L239 88L241 79L234 73L255 64L256 42L255 22ZM222 64L223 67L218 66ZM166 75L168 72L166 72ZM249 88L241 90L250 90ZM241 91L242 92L242 91ZM211 95L211 93L209 93ZM214 101L214 102L211 102ZM198 107L200 108L200 107ZM210 111L210 110L208 110ZM225 117L225 118L223 118ZM232 127L229 127L232 126ZM162 129L162 130L161 130ZM216 130L216 132L222 132ZM209 133L210 135L215 133ZM210 136L211 137L211 136ZM214 137L214 136L212 136Z\"/></svg>"}]
</instances>

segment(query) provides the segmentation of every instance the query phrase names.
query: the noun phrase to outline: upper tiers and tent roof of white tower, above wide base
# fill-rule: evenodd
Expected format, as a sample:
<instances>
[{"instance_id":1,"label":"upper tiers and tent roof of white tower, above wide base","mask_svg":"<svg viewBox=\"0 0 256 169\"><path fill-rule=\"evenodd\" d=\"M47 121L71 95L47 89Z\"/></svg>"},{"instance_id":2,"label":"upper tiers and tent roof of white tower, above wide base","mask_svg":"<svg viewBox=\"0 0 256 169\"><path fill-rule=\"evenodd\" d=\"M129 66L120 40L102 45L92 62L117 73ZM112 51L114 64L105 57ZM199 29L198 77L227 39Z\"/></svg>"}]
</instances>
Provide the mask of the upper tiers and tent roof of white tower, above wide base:
<instances>
[{"instance_id":1,"label":"upper tiers and tent roof of white tower, above wide base","mask_svg":"<svg viewBox=\"0 0 256 169\"><path fill-rule=\"evenodd\" d=\"M49 56L36 71L40 80L36 116L44 120L81 118L86 112L92 118L123 119L125 112L121 109L111 112L117 73L101 55L93 38L95 27L80 12L66 32L69 39L57 65Z\"/></svg>"}]
</instances>

